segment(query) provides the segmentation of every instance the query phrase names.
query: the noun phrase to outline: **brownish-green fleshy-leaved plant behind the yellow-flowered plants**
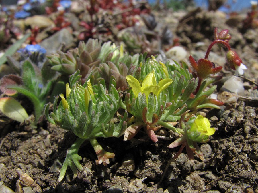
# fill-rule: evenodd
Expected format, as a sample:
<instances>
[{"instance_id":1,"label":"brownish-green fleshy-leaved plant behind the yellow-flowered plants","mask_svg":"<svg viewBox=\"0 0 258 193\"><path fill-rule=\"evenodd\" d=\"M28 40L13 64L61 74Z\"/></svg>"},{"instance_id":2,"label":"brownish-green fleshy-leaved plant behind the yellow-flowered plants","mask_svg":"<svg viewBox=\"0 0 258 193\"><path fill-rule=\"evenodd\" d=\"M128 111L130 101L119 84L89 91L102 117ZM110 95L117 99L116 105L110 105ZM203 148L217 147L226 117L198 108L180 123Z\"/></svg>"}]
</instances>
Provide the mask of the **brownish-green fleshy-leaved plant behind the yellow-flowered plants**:
<instances>
[{"instance_id":1,"label":"brownish-green fleshy-leaved plant behind the yellow-flowered plants","mask_svg":"<svg viewBox=\"0 0 258 193\"><path fill-rule=\"evenodd\" d=\"M130 56L124 52L123 45L116 46L110 41L101 46L101 41L89 39L85 44L79 43L78 48L63 53L61 51L47 56L52 69L62 74L71 75L76 70L85 79L93 72L95 83L102 77L109 84L111 75L116 78L117 89L127 88L126 75L130 67L138 65L139 54Z\"/></svg>"}]
</instances>

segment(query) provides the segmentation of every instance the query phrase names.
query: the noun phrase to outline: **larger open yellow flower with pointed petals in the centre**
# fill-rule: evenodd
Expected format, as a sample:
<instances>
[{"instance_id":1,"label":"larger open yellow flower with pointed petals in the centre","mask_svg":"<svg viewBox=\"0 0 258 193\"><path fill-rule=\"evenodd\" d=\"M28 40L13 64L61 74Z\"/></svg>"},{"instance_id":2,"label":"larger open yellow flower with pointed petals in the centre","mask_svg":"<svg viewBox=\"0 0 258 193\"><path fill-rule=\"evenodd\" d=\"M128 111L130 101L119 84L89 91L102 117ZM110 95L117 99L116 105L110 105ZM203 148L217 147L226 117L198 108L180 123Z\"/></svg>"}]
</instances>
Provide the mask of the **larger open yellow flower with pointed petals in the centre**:
<instances>
[{"instance_id":1,"label":"larger open yellow flower with pointed petals in the centre","mask_svg":"<svg viewBox=\"0 0 258 193\"><path fill-rule=\"evenodd\" d=\"M159 81L157 84L154 69L144 78L142 86L140 85L140 82L131 75L126 76L126 80L132 88L135 97L137 97L140 92L142 94L144 93L146 95L147 102L148 96L151 92L158 97L159 94L172 83L172 79L166 78Z\"/></svg>"}]
</instances>

